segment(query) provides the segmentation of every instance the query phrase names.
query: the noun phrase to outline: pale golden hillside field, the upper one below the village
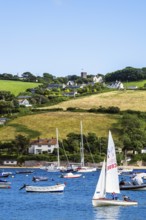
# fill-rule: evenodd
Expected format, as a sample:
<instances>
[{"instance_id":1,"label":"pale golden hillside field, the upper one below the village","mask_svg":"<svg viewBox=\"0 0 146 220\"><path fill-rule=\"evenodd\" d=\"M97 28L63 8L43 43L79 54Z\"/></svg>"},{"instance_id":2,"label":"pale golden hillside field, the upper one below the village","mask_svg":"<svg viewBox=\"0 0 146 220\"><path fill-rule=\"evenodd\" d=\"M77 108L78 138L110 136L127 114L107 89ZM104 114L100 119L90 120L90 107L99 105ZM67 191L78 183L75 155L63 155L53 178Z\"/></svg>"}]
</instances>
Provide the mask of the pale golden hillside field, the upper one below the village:
<instances>
[{"instance_id":1,"label":"pale golden hillside field, the upper one below the village","mask_svg":"<svg viewBox=\"0 0 146 220\"><path fill-rule=\"evenodd\" d=\"M146 91L116 90L62 102L49 108L66 109L68 107L76 107L90 109L99 106L106 108L109 106L117 106L120 110L132 109L146 111Z\"/></svg>"}]
</instances>

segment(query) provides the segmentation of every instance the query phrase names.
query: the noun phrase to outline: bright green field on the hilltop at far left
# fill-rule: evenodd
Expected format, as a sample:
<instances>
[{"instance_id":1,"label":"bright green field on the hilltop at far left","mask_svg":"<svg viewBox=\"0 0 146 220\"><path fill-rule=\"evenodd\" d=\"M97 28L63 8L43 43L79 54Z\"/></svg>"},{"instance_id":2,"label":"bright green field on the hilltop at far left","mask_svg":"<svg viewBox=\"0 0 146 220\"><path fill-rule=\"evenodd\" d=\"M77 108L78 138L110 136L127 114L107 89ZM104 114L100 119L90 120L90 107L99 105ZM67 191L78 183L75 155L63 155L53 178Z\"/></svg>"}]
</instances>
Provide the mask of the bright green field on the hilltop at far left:
<instances>
[{"instance_id":1,"label":"bright green field on the hilltop at far left","mask_svg":"<svg viewBox=\"0 0 146 220\"><path fill-rule=\"evenodd\" d=\"M10 91L17 96L20 92L25 92L28 88L35 88L39 83L20 82L11 80L0 80L0 90Z\"/></svg>"}]
</instances>

